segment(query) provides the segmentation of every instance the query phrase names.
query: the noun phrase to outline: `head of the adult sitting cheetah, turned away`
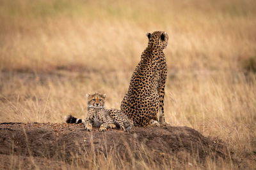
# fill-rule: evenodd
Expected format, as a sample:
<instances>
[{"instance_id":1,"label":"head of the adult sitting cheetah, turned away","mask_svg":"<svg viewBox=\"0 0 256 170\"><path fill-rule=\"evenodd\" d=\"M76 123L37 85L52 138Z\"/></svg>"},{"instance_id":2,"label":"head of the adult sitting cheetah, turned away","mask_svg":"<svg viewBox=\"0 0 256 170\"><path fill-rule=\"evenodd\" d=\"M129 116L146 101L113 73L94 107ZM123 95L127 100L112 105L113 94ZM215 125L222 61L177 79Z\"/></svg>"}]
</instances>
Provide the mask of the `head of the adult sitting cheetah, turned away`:
<instances>
[{"instance_id":1,"label":"head of the adult sitting cheetah, turned away","mask_svg":"<svg viewBox=\"0 0 256 170\"><path fill-rule=\"evenodd\" d=\"M152 34L147 33L148 47L163 50L168 45L168 34L163 31L155 31Z\"/></svg>"}]
</instances>

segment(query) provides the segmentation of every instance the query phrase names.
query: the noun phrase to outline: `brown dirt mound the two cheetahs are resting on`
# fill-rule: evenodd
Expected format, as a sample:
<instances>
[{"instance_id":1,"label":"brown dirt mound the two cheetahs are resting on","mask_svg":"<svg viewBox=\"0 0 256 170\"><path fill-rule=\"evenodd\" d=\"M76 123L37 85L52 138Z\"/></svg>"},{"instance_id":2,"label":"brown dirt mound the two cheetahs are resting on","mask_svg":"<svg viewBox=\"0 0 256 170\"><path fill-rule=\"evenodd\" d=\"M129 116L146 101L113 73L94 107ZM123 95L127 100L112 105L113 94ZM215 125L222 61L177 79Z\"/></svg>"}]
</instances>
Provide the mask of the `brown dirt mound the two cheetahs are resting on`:
<instances>
[{"instance_id":1,"label":"brown dirt mound the two cheetahs are resting on","mask_svg":"<svg viewBox=\"0 0 256 170\"><path fill-rule=\"evenodd\" d=\"M99 132L97 128L87 132L81 124L0 124L1 157L42 157L69 164L84 155L108 157L110 153L128 162L143 159L157 164L189 157L196 162L228 157L221 141L205 138L189 127L134 127L134 134L128 134L121 130Z\"/></svg>"}]
</instances>

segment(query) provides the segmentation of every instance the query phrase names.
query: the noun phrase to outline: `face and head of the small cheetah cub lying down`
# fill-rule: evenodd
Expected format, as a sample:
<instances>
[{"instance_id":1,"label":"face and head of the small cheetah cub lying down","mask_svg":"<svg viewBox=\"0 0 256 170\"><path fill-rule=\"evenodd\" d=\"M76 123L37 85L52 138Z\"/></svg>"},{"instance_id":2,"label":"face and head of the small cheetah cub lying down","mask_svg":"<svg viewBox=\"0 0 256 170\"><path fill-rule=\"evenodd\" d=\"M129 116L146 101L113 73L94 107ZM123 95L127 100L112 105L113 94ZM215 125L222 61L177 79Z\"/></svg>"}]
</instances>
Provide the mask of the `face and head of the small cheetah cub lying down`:
<instances>
[{"instance_id":1,"label":"face and head of the small cheetah cub lying down","mask_svg":"<svg viewBox=\"0 0 256 170\"><path fill-rule=\"evenodd\" d=\"M88 99L88 108L96 107L96 108L104 108L106 94L86 94Z\"/></svg>"}]
</instances>

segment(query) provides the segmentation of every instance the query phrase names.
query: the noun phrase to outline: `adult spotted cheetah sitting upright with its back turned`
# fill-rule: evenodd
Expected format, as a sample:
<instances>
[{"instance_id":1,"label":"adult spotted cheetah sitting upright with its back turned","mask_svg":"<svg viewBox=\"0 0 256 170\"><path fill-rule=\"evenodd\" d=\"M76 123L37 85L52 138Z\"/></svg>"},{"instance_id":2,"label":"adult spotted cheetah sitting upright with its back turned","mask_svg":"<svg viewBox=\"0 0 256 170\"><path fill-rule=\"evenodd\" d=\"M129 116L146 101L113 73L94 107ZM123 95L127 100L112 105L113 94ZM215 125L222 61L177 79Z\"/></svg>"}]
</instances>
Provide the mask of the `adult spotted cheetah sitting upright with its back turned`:
<instances>
[{"instance_id":1,"label":"adult spotted cheetah sitting upright with its back turned","mask_svg":"<svg viewBox=\"0 0 256 170\"><path fill-rule=\"evenodd\" d=\"M148 46L132 74L129 90L121 103L121 111L134 122L145 126L154 120L166 125L164 120L164 86L167 66L163 49L168 44L168 34L163 31L147 33ZM157 122L157 125L159 125Z\"/></svg>"}]
</instances>

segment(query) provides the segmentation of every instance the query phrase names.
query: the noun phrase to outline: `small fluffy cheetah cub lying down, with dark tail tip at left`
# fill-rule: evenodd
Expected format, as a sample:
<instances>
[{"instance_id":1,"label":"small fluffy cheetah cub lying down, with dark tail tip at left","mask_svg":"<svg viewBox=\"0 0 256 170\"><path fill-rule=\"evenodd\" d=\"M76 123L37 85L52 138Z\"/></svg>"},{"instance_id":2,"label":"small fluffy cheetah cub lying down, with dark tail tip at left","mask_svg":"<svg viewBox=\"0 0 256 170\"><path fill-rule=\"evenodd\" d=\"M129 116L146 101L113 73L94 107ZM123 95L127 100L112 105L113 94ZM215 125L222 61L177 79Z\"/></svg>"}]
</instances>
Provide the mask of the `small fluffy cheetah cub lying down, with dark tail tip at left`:
<instances>
[{"instance_id":1,"label":"small fluffy cheetah cub lying down, with dark tail tip at left","mask_svg":"<svg viewBox=\"0 0 256 170\"><path fill-rule=\"evenodd\" d=\"M106 94L88 94L88 115L85 120L68 115L65 117L67 124L83 123L86 131L92 131L92 127L100 127L99 131L104 132L108 128L114 129L120 126L125 132L132 133L133 122L120 110L104 109Z\"/></svg>"}]
</instances>

